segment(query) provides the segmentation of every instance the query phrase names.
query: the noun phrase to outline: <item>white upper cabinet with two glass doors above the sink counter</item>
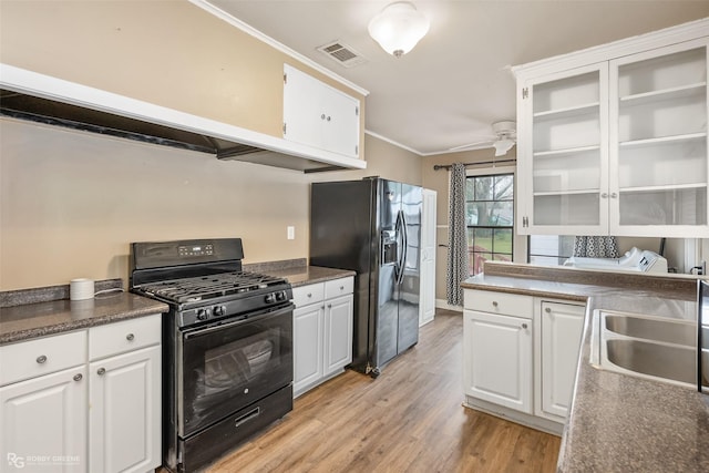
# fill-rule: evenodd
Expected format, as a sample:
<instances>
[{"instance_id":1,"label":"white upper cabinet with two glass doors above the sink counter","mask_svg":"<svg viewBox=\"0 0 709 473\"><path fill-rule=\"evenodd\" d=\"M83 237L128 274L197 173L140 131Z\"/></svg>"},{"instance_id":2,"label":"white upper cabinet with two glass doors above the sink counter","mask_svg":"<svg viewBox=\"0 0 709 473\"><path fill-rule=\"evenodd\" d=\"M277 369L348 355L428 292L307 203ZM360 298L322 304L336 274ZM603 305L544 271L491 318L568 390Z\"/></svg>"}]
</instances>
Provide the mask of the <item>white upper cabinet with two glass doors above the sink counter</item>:
<instances>
[{"instance_id":1,"label":"white upper cabinet with two glass doors above the sink counter","mask_svg":"<svg viewBox=\"0 0 709 473\"><path fill-rule=\"evenodd\" d=\"M521 234L709 236L708 32L514 68Z\"/></svg>"}]
</instances>

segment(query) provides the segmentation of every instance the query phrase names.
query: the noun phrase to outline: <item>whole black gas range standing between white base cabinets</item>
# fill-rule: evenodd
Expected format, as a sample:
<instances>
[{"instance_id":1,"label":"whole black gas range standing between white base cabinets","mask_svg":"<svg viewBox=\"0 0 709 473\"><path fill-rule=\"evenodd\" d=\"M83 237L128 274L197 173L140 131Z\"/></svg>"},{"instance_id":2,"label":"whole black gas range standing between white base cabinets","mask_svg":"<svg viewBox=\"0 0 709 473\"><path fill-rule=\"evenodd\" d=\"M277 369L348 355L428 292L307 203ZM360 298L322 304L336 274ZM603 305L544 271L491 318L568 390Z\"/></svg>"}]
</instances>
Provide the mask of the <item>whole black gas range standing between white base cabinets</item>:
<instances>
[{"instance_id":1,"label":"whole black gas range standing between white base cabinets","mask_svg":"<svg viewBox=\"0 0 709 473\"><path fill-rule=\"evenodd\" d=\"M292 290L244 271L239 238L131 245L163 323L164 466L199 469L292 410Z\"/></svg>"}]
</instances>

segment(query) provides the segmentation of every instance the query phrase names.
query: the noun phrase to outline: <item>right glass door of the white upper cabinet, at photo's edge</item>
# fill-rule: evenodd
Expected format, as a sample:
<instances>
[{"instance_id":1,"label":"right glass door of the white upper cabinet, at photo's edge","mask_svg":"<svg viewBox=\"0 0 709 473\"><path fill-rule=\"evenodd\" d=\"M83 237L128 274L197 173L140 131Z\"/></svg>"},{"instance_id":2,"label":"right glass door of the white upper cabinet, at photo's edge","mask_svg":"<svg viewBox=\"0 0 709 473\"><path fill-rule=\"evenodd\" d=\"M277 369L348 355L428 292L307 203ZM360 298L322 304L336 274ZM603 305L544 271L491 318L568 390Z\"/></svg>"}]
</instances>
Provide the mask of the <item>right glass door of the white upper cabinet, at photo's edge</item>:
<instances>
[{"instance_id":1,"label":"right glass door of the white upper cabinet, at photo's edge","mask_svg":"<svg viewBox=\"0 0 709 473\"><path fill-rule=\"evenodd\" d=\"M610 61L610 233L706 236L707 39Z\"/></svg>"}]
</instances>

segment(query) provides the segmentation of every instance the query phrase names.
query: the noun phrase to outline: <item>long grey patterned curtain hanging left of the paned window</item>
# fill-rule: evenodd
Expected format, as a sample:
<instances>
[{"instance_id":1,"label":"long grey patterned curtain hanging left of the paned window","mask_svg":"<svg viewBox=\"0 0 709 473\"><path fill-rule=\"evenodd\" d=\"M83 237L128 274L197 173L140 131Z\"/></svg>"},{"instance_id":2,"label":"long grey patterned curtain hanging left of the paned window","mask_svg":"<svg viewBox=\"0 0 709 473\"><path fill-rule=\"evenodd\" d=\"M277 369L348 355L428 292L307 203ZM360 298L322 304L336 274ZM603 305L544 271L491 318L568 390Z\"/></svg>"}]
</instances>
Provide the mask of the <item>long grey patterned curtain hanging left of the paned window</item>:
<instances>
[{"instance_id":1,"label":"long grey patterned curtain hanging left of the paned window","mask_svg":"<svg viewBox=\"0 0 709 473\"><path fill-rule=\"evenodd\" d=\"M470 277L467 271L467 229L465 227L465 165L462 163L451 165L449 205L445 296L451 306L462 306L461 282Z\"/></svg>"}]
</instances>

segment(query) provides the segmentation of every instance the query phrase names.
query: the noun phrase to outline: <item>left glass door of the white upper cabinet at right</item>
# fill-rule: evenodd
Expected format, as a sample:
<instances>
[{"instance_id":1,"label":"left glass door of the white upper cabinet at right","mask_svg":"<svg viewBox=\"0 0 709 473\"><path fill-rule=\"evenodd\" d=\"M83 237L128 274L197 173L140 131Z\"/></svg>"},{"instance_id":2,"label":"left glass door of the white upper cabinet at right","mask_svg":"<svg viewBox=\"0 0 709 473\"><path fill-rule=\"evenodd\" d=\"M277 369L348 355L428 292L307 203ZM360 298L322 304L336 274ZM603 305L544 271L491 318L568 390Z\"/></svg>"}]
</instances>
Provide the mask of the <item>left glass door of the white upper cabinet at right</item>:
<instances>
[{"instance_id":1,"label":"left glass door of the white upper cabinet at right","mask_svg":"<svg viewBox=\"0 0 709 473\"><path fill-rule=\"evenodd\" d=\"M607 63L522 86L518 160L523 234L607 234Z\"/></svg>"}]
</instances>

